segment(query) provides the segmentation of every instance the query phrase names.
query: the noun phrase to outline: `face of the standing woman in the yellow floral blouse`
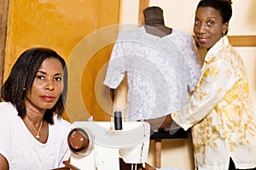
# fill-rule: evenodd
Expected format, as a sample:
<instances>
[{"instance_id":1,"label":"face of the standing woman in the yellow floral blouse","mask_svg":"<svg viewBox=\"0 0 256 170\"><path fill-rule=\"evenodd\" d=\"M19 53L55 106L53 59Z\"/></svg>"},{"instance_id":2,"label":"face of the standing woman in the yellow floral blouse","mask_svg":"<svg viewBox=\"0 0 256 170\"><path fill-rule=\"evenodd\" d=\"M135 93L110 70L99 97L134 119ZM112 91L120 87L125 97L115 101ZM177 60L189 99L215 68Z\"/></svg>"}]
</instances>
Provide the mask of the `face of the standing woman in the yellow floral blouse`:
<instances>
[{"instance_id":1,"label":"face of the standing woman in the yellow floral blouse","mask_svg":"<svg viewBox=\"0 0 256 170\"><path fill-rule=\"evenodd\" d=\"M211 7L200 7L195 12L195 41L201 48L212 48L227 31L229 23L223 23L219 11Z\"/></svg>"}]
</instances>

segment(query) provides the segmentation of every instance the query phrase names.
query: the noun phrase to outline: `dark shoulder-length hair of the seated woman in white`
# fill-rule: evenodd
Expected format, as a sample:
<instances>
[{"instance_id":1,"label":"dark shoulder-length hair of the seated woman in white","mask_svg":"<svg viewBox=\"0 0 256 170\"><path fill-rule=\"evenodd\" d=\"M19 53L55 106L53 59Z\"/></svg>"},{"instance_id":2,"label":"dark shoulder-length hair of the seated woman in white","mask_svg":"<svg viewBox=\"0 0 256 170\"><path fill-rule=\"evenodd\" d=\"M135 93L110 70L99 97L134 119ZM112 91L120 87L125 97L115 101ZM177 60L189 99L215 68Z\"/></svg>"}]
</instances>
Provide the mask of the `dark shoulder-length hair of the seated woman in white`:
<instances>
[{"instance_id":1,"label":"dark shoulder-length hair of the seated woman in white","mask_svg":"<svg viewBox=\"0 0 256 170\"><path fill-rule=\"evenodd\" d=\"M44 59L54 58L61 61L63 67L63 90L60 98L52 109L46 110L44 120L49 124L54 124L53 116L56 113L61 116L67 98L67 67L64 59L54 50L49 48L29 48L16 60L12 71L1 89L2 97L5 101L15 105L18 115L23 119L26 116L26 106L24 100L28 90L32 88L32 83L36 77L38 69Z\"/></svg>"}]
</instances>

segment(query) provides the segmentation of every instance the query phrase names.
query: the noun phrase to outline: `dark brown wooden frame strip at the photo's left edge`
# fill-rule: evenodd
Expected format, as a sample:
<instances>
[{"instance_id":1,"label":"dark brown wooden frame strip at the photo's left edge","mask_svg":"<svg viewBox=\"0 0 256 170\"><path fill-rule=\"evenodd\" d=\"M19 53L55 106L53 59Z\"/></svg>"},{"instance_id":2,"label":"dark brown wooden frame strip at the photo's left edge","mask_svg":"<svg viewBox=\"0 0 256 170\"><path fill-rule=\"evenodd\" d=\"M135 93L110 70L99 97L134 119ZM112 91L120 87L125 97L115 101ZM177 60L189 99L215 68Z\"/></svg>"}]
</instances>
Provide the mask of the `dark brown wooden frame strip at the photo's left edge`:
<instances>
[{"instance_id":1,"label":"dark brown wooden frame strip at the photo's left edge","mask_svg":"<svg viewBox=\"0 0 256 170\"><path fill-rule=\"evenodd\" d=\"M0 88L2 88L3 85L4 60L6 55L6 40L9 21L9 3L10 0L2 0L0 3Z\"/></svg>"}]
</instances>

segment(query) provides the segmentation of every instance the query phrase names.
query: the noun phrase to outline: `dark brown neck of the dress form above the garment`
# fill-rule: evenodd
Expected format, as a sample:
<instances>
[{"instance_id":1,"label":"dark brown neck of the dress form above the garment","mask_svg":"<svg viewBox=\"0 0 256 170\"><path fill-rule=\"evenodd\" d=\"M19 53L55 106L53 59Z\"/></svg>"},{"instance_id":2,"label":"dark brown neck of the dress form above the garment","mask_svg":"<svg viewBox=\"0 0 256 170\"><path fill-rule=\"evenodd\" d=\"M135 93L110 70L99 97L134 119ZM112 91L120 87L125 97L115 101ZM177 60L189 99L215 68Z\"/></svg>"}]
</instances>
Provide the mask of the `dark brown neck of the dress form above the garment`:
<instances>
[{"instance_id":1,"label":"dark brown neck of the dress form above the garment","mask_svg":"<svg viewBox=\"0 0 256 170\"><path fill-rule=\"evenodd\" d=\"M148 7L143 10L145 30L149 34L164 37L172 34L172 28L165 26L163 10L159 7Z\"/></svg>"}]
</instances>

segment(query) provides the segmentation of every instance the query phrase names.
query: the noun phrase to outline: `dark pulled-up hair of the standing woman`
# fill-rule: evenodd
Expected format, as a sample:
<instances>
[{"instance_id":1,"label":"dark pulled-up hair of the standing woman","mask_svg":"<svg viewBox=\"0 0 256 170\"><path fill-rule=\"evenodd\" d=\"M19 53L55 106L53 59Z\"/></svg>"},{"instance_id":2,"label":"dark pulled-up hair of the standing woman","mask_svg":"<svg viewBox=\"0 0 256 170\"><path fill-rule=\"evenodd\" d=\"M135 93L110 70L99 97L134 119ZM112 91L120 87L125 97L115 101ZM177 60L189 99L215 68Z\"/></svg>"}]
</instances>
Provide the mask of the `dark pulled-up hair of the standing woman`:
<instances>
[{"instance_id":1,"label":"dark pulled-up hair of the standing woman","mask_svg":"<svg viewBox=\"0 0 256 170\"><path fill-rule=\"evenodd\" d=\"M229 22L232 16L231 0L201 0L197 8L200 7L212 7L219 11L222 17L223 23ZM228 31L224 33L226 35Z\"/></svg>"}]
</instances>

